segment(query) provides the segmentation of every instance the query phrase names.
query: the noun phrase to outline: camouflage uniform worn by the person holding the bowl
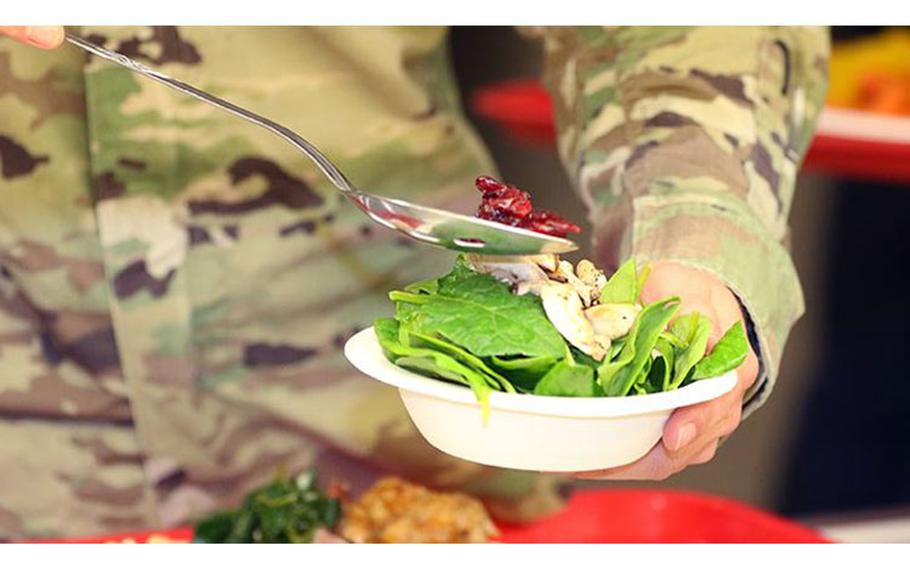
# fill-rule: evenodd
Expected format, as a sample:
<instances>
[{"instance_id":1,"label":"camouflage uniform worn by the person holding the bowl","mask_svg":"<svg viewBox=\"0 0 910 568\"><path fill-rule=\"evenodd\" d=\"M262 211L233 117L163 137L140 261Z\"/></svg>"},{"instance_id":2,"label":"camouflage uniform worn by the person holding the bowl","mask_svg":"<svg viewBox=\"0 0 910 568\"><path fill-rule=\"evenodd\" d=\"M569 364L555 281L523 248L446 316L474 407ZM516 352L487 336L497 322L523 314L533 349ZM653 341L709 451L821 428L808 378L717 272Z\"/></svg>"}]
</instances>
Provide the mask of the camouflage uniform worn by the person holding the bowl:
<instances>
[{"instance_id":1,"label":"camouflage uniform worn by the person holding the bowl","mask_svg":"<svg viewBox=\"0 0 910 568\"><path fill-rule=\"evenodd\" d=\"M377 193L468 211L494 171L444 28L80 32L287 124ZM802 309L781 241L824 33L532 33L601 242L725 278L770 385ZM342 356L449 255L375 228L281 140L71 47L0 42L0 117L0 539L184 524L308 465L516 517L558 504L558 478L427 446Z\"/></svg>"}]
</instances>

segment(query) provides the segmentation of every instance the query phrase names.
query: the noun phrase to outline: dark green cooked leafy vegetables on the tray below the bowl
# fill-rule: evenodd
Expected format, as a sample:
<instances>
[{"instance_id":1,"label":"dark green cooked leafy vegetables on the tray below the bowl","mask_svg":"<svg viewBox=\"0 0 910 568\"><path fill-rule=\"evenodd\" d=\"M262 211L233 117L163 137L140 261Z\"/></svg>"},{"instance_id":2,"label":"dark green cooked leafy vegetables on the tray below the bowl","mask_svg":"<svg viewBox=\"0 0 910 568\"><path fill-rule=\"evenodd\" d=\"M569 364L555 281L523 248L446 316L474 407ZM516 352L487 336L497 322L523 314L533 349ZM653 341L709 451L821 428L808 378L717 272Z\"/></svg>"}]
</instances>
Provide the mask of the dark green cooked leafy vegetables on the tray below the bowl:
<instances>
[{"instance_id":1,"label":"dark green cooked leafy vegetables on the tray below the bowl","mask_svg":"<svg viewBox=\"0 0 910 568\"><path fill-rule=\"evenodd\" d=\"M203 543L308 543L320 527L334 529L341 503L322 492L312 471L296 479L279 476L250 493L233 510L214 513L195 527Z\"/></svg>"}]
</instances>

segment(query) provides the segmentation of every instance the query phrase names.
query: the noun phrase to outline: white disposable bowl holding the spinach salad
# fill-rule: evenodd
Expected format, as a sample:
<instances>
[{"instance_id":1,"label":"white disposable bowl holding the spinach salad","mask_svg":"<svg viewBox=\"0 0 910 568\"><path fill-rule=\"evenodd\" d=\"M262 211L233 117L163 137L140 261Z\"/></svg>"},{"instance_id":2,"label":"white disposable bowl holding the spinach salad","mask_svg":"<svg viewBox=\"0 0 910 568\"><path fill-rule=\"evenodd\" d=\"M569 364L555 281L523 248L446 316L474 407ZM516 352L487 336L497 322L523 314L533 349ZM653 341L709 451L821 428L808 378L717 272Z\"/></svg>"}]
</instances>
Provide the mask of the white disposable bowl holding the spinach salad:
<instances>
[{"instance_id":1,"label":"white disposable bowl holding the spinach salad","mask_svg":"<svg viewBox=\"0 0 910 568\"><path fill-rule=\"evenodd\" d=\"M731 371L675 391L629 397L493 392L484 424L471 389L395 366L373 328L348 340L344 354L363 373L398 388L414 425L437 449L530 471L591 471L634 462L660 440L674 409L719 397L736 384Z\"/></svg>"}]
</instances>

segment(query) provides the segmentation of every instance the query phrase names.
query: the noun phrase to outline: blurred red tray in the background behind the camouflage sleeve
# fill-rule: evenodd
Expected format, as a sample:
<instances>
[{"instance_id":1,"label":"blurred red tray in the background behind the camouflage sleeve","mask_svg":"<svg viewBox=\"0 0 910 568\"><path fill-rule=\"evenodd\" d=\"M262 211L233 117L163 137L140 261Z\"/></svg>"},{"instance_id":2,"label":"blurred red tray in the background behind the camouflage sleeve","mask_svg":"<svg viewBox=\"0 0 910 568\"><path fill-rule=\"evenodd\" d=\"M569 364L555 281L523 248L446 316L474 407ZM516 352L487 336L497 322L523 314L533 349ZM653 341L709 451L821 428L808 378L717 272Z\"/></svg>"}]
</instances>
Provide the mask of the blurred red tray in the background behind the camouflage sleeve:
<instances>
[{"instance_id":1,"label":"blurred red tray in the background behind the camouflage sleeve","mask_svg":"<svg viewBox=\"0 0 910 568\"><path fill-rule=\"evenodd\" d=\"M474 93L471 108L520 143L549 147L556 140L550 95L536 81L484 87ZM830 175L910 182L910 118L825 109L803 167Z\"/></svg>"}]
</instances>

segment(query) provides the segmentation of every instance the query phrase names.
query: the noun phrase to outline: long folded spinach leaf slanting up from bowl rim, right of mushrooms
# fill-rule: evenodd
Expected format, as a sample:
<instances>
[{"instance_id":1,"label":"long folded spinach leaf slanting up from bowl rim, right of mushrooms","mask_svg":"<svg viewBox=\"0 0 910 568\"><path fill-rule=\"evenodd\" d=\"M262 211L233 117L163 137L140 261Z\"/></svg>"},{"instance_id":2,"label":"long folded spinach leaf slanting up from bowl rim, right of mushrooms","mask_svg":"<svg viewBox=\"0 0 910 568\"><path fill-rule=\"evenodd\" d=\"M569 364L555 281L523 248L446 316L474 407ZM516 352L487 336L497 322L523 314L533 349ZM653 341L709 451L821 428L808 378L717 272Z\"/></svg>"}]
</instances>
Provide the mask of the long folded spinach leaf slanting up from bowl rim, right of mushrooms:
<instances>
[{"instance_id":1,"label":"long folded spinach leaf slanting up from bowl rim, right of mushrooms","mask_svg":"<svg viewBox=\"0 0 910 568\"><path fill-rule=\"evenodd\" d=\"M651 350L657 344L660 332L678 309L679 298L671 297L646 306L638 314L617 360L598 370L600 386L607 396L625 396L629 393L639 373L650 360Z\"/></svg>"}]
</instances>

